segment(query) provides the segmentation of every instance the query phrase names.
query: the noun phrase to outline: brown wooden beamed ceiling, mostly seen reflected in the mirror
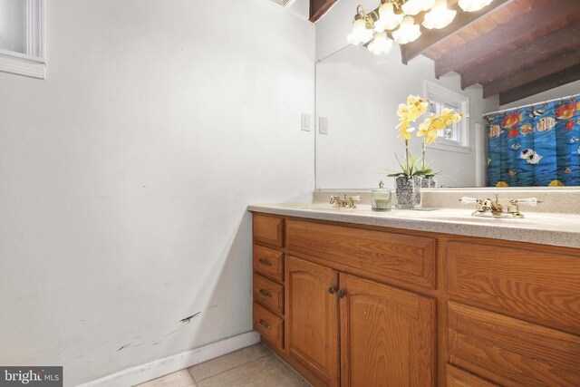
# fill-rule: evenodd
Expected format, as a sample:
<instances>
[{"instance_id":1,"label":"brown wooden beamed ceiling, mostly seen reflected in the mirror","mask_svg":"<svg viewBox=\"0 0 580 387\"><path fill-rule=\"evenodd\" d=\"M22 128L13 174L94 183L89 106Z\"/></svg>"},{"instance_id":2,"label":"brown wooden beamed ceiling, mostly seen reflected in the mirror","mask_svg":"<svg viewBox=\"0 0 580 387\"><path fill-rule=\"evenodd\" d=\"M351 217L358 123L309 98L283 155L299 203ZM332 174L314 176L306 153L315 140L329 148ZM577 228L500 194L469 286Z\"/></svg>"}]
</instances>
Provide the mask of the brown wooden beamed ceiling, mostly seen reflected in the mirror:
<instances>
[{"instance_id":1,"label":"brown wooden beamed ceiling, mostly seen reflected in the mirror","mask_svg":"<svg viewBox=\"0 0 580 387\"><path fill-rule=\"evenodd\" d=\"M310 20L336 1L311 0ZM463 89L480 83L501 105L580 80L580 0L494 0L476 13L448 4L453 22L402 45L403 63L426 55L438 78L459 73Z\"/></svg>"}]
</instances>

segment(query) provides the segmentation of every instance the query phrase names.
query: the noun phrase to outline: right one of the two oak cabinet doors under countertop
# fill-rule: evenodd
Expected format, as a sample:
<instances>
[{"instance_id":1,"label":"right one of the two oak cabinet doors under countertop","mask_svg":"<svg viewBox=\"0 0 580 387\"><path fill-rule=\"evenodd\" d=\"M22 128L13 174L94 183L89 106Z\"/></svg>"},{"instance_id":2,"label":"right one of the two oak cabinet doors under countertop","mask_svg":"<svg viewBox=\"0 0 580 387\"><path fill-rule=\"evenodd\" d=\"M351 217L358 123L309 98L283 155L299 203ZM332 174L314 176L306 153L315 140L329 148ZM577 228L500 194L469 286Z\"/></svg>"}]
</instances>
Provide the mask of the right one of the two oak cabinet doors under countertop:
<instances>
[{"instance_id":1,"label":"right one of the two oak cabinet doors under countertop","mask_svg":"<svg viewBox=\"0 0 580 387\"><path fill-rule=\"evenodd\" d=\"M435 300L340 275L343 386L433 386Z\"/></svg>"}]
</instances>

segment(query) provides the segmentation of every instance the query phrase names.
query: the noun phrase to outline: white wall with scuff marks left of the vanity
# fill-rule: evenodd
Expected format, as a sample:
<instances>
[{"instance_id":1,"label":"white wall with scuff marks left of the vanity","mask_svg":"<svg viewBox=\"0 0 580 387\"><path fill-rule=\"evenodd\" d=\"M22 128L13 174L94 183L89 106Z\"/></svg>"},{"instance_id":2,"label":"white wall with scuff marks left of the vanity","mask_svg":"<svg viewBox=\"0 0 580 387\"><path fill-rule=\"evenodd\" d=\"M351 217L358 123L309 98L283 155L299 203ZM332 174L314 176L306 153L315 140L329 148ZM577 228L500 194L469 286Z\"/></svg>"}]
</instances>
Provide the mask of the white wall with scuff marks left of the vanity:
<instances>
[{"instance_id":1,"label":"white wall with scuff marks left of the vanity","mask_svg":"<svg viewBox=\"0 0 580 387\"><path fill-rule=\"evenodd\" d=\"M73 385L251 330L246 207L314 188L313 25L59 0L46 40L46 81L0 73L0 364Z\"/></svg>"}]
</instances>

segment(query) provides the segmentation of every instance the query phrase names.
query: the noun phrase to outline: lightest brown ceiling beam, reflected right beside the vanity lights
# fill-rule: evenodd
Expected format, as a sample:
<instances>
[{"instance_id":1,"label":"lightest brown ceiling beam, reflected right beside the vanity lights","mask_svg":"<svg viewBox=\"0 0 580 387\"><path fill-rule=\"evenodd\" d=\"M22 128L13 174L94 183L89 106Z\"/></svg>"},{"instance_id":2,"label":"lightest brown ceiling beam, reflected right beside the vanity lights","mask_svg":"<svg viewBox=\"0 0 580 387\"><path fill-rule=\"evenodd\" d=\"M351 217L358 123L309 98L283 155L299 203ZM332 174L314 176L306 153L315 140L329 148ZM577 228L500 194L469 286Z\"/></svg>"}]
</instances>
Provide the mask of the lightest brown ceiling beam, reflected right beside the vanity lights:
<instances>
[{"instance_id":1,"label":"lightest brown ceiling beam, reflected right beside the vanity lights","mask_svg":"<svg viewBox=\"0 0 580 387\"><path fill-rule=\"evenodd\" d=\"M496 0L478 12L463 12L459 5L449 5L449 9L454 9L457 11L457 15L451 24L445 28L441 28L440 30L423 31L423 33L420 35L420 38L415 42L401 45L402 63L409 63L411 59L419 56L421 53L426 52L435 44L445 40L447 37L449 37L449 35L459 33L459 31L468 27L470 24L477 22L478 19L480 19L482 16L485 16L488 13L498 9L500 6L507 5L513 1L514 0Z\"/></svg>"}]
</instances>

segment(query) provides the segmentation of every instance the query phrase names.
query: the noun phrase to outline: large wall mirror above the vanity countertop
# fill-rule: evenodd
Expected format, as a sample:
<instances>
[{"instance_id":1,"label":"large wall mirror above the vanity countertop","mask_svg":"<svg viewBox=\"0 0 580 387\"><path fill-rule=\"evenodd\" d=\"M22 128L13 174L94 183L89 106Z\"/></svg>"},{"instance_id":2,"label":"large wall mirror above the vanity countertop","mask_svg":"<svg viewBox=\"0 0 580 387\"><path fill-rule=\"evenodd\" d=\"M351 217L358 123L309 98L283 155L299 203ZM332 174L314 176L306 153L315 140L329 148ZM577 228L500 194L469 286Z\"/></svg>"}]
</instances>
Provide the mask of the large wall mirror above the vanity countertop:
<instances>
[{"instance_id":1,"label":"large wall mirror above the vanity countertop","mask_svg":"<svg viewBox=\"0 0 580 387\"><path fill-rule=\"evenodd\" d=\"M580 2L554 11L554 1L495 0L473 15L456 3L450 32L423 28L381 55L347 43L359 2L341 0L317 23L317 189L393 187L386 175L404 153L396 111L410 94L427 98L430 112L464 115L427 148L437 187L580 185L580 55L568 47ZM533 20L539 26L517 27ZM420 147L411 140L412 153Z\"/></svg>"}]
</instances>

